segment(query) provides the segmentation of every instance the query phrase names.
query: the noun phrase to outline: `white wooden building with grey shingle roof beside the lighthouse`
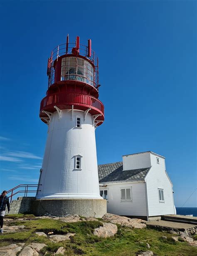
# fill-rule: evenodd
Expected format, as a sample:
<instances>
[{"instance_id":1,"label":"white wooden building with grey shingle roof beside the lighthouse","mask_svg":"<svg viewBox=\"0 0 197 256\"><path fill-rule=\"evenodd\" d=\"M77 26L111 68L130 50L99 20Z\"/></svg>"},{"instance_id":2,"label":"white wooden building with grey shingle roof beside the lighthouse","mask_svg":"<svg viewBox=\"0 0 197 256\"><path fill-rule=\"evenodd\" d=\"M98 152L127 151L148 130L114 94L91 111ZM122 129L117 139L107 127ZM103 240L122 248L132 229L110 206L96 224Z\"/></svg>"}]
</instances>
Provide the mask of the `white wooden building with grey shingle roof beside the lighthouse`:
<instances>
[{"instance_id":1,"label":"white wooden building with grey shingle roof beside the lighthouse","mask_svg":"<svg viewBox=\"0 0 197 256\"><path fill-rule=\"evenodd\" d=\"M124 155L123 162L98 165L98 176L108 213L144 219L176 214L173 185L161 155Z\"/></svg>"}]
</instances>

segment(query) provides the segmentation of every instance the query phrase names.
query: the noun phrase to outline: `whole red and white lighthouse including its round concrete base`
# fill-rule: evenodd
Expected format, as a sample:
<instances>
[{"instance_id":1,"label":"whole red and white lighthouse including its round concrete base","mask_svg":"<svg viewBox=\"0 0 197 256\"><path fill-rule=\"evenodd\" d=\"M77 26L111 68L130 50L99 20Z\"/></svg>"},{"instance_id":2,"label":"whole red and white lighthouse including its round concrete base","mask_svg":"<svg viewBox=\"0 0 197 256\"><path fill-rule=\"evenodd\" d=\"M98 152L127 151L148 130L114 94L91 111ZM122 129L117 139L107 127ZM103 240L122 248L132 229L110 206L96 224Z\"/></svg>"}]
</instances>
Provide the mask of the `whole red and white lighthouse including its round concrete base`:
<instances>
[{"instance_id":1,"label":"whole red and white lighthouse including its round concrete base","mask_svg":"<svg viewBox=\"0 0 197 256\"><path fill-rule=\"evenodd\" d=\"M98 57L87 45L57 46L48 58L48 89L39 117L48 126L34 213L102 217L95 129L104 121L98 99Z\"/></svg>"}]
</instances>

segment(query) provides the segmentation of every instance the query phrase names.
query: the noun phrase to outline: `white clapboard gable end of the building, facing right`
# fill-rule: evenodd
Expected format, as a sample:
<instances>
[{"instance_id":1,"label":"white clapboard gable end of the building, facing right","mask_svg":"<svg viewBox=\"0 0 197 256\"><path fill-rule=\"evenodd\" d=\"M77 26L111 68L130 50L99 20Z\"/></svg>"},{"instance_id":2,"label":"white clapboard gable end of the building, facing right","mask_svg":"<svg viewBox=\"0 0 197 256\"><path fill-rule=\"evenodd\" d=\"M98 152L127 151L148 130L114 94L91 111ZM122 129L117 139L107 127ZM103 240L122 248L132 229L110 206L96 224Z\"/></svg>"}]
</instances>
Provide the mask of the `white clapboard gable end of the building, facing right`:
<instances>
[{"instance_id":1,"label":"white clapboard gable end of the building, facing right","mask_svg":"<svg viewBox=\"0 0 197 256\"><path fill-rule=\"evenodd\" d=\"M159 164L156 157L159 158ZM145 180L147 184L148 215L175 214L172 184L165 173L165 159L150 153L151 169ZM158 188L163 189L165 202L159 201Z\"/></svg>"}]
</instances>

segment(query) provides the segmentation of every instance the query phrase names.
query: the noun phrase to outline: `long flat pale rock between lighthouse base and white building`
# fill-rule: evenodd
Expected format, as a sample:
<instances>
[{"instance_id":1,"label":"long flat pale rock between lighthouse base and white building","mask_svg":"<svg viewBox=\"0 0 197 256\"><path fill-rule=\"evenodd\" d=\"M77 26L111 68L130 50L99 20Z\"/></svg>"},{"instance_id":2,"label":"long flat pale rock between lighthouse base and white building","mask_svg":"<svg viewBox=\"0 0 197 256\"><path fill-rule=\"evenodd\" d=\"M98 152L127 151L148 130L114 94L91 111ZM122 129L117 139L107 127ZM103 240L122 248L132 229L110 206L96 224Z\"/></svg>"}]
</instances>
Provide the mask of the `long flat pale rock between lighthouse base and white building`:
<instances>
[{"instance_id":1,"label":"long flat pale rock between lighthouse base and white building","mask_svg":"<svg viewBox=\"0 0 197 256\"><path fill-rule=\"evenodd\" d=\"M121 226L127 226L130 228L145 228L146 222L141 219L131 219L124 216L119 216L111 213L106 213L102 217L103 221L109 221L113 224L119 224Z\"/></svg>"}]
</instances>

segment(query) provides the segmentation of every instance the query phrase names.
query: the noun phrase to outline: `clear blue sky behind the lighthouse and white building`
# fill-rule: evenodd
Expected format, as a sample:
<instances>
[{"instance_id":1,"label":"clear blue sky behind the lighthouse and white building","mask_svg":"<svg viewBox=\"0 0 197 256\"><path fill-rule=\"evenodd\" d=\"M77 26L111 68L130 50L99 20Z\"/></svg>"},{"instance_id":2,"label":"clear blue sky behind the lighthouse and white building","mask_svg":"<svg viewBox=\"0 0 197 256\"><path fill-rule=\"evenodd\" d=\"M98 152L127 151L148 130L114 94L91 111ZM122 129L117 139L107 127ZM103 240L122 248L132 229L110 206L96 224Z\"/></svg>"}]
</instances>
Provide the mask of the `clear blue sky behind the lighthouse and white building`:
<instances>
[{"instance_id":1,"label":"clear blue sky behind the lighthouse and white building","mask_svg":"<svg viewBox=\"0 0 197 256\"><path fill-rule=\"evenodd\" d=\"M47 138L47 59L76 35L99 58L98 164L166 157L175 205L197 188L196 1L1 1L0 189L37 183ZM197 192L184 205L197 206Z\"/></svg>"}]
</instances>

